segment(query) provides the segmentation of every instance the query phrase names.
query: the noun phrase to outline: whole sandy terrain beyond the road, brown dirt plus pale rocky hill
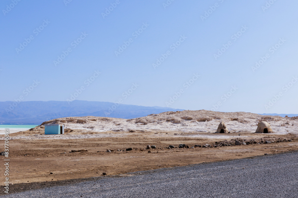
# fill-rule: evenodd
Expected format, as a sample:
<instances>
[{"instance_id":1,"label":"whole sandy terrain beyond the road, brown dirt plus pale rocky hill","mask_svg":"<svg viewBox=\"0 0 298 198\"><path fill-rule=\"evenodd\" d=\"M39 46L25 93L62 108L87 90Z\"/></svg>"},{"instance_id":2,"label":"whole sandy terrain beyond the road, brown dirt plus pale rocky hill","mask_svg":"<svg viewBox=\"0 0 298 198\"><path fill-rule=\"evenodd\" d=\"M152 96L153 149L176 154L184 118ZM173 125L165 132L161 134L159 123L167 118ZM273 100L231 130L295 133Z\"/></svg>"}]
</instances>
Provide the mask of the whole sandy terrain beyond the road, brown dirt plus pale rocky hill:
<instances>
[{"instance_id":1,"label":"whole sandy terrain beyond the road, brown dirt plus pale rocky hill","mask_svg":"<svg viewBox=\"0 0 298 198\"><path fill-rule=\"evenodd\" d=\"M222 120L231 133L214 133ZM254 133L258 121L268 121L274 133ZM47 123L64 123L65 134L44 135L43 124ZM103 172L117 175L293 151L298 150L297 123L296 118L243 112L216 114L204 110L165 112L130 120L93 116L59 118L32 130L10 134L9 180L12 185L89 178L102 176ZM234 145L235 139L253 141ZM224 140L232 140L227 142L231 145L219 146ZM272 143L265 144L265 140ZM0 141L4 142L4 135ZM150 149L151 153L145 149L148 144L156 146ZM213 146L177 148L179 144ZM176 148L168 149L169 145ZM123 151L126 148L133 150ZM70 153L79 149L88 151ZM107 153L107 149L114 151ZM0 182L4 182L4 177L0 177Z\"/></svg>"}]
</instances>

